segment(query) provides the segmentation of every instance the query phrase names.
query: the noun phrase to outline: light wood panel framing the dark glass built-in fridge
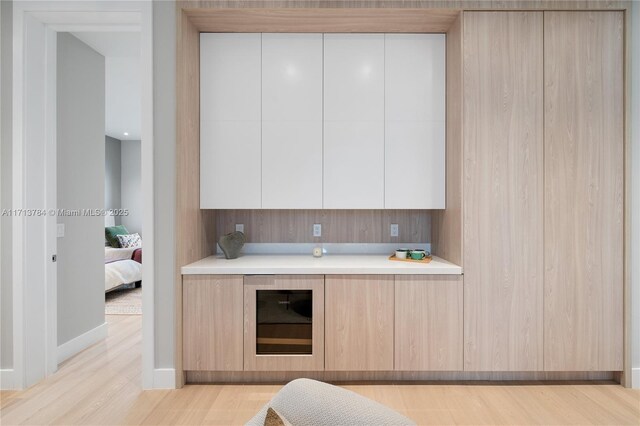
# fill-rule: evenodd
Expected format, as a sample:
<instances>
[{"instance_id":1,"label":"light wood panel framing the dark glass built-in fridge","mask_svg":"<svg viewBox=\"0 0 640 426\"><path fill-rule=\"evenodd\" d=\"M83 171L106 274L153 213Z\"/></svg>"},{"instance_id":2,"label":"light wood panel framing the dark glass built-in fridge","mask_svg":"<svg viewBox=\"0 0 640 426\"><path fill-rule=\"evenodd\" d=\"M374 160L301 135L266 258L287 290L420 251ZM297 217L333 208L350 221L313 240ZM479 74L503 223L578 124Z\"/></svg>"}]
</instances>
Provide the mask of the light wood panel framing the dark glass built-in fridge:
<instances>
[{"instance_id":1,"label":"light wood panel framing the dark glass built-in fridge","mask_svg":"<svg viewBox=\"0 0 640 426\"><path fill-rule=\"evenodd\" d=\"M257 354L257 297L260 290L311 290L311 355ZM248 275L244 277L244 370L322 371L324 370L324 276Z\"/></svg>"}]
</instances>

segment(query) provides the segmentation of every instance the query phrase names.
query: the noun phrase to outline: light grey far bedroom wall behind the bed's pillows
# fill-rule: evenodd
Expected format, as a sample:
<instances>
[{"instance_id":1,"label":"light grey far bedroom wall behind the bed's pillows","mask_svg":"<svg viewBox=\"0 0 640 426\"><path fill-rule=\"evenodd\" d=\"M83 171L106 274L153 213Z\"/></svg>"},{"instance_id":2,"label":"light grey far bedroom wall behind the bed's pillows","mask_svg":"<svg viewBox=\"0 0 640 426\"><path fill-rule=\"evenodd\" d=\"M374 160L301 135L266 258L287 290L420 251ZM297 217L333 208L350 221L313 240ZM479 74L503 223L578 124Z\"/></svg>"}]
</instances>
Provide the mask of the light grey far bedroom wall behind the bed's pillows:
<instances>
[{"instance_id":1,"label":"light grey far bedroom wall behind the bed's pillows","mask_svg":"<svg viewBox=\"0 0 640 426\"><path fill-rule=\"evenodd\" d=\"M129 214L122 216L120 221L132 234L137 232L142 235L142 180L140 173L142 157L140 141L122 141L120 151L120 205L122 209L129 210Z\"/></svg>"}]
</instances>

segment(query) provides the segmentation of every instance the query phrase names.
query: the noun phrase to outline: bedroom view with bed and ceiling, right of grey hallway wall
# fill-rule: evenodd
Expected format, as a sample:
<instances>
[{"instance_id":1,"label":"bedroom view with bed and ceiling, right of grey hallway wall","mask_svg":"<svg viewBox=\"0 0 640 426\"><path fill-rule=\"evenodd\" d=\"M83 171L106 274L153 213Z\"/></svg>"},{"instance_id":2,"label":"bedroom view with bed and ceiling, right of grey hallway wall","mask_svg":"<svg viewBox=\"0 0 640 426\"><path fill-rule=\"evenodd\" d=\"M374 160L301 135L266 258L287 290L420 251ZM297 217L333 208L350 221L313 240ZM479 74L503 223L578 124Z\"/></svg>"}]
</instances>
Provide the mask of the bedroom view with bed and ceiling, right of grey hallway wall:
<instances>
[{"instance_id":1,"label":"bedroom view with bed and ceiling, right of grey hallway wall","mask_svg":"<svg viewBox=\"0 0 640 426\"><path fill-rule=\"evenodd\" d=\"M105 58L105 314L142 315L140 33L75 35Z\"/></svg>"}]
</instances>

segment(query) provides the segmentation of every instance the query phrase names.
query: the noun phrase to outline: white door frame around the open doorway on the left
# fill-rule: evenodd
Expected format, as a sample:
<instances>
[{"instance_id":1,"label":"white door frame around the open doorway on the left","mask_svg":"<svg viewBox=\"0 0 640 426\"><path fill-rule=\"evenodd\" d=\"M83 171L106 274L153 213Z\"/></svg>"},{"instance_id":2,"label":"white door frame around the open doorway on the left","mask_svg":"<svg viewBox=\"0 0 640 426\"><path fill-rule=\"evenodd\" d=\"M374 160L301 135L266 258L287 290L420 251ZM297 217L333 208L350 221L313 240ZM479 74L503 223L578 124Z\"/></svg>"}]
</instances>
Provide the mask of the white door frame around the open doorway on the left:
<instances>
[{"instance_id":1,"label":"white door frame around the open doorway on the left","mask_svg":"<svg viewBox=\"0 0 640 426\"><path fill-rule=\"evenodd\" d=\"M175 387L175 383L172 386L154 380L153 5L150 1L14 1L12 208L49 210L57 207L55 86L56 33L59 31L141 33L142 229L145 236L142 385L145 389ZM27 51L27 45L33 50ZM45 64L37 76L44 76L45 90L28 91L33 87L30 79L37 78L27 72L30 67L25 65L25 58L28 57ZM34 129L28 125L31 122L44 124L44 134L40 135L44 137L32 135ZM44 154L32 160L27 148L30 152L40 149ZM28 205L27 182L45 188L37 205L33 200ZM27 233L27 222L30 226L37 224L44 232ZM3 383L3 387L24 389L57 369L56 268L51 261L57 245L55 227L55 216L35 222L20 215L13 218L13 374L10 383Z\"/></svg>"}]
</instances>

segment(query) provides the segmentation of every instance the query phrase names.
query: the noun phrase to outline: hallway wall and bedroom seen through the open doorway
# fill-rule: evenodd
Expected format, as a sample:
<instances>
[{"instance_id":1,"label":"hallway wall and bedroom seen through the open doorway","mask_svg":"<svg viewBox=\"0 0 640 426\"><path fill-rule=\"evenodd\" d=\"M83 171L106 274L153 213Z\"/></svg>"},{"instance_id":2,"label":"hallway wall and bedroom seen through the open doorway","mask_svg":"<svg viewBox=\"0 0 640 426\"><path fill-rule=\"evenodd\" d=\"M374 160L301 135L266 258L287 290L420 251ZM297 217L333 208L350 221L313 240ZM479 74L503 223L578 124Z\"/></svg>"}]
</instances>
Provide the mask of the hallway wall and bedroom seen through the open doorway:
<instances>
[{"instance_id":1,"label":"hallway wall and bedroom seen through the open doorway","mask_svg":"<svg viewBox=\"0 0 640 426\"><path fill-rule=\"evenodd\" d=\"M57 33L59 364L142 318L140 57L140 32Z\"/></svg>"}]
</instances>

